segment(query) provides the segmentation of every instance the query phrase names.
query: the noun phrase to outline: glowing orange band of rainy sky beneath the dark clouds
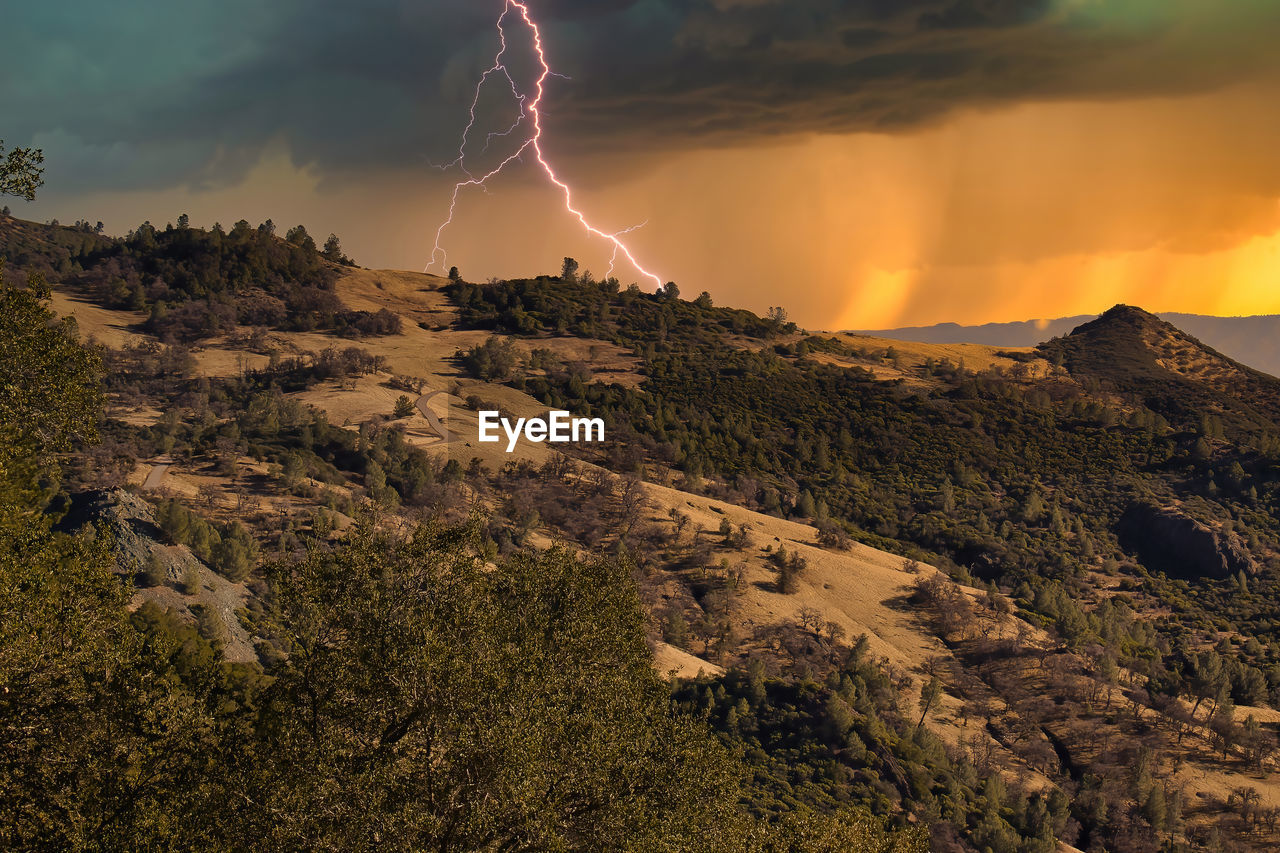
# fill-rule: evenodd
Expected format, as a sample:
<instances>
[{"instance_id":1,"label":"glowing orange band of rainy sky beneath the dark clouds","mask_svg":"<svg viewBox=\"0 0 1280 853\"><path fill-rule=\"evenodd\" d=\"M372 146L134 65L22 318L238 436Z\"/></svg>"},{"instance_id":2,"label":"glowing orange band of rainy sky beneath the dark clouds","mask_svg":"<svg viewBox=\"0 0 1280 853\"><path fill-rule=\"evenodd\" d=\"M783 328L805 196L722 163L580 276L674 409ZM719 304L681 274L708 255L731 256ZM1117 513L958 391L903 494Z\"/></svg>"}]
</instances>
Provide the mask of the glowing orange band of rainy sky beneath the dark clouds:
<instances>
[{"instance_id":1,"label":"glowing orange band of rainy sky beneath the dark clouds","mask_svg":"<svg viewBox=\"0 0 1280 853\"><path fill-rule=\"evenodd\" d=\"M808 328L1021 320L1116 302L1280 313L1277 96L1253 85L1021 104L913 133L559 168L602 225L648 220L631 237L637 256L686 296L783 305ZM554 272L564 255L603 275L607 245L584 238L535 177L525 169L462 197L444 245L463 275ZM202 224L303 222L320 237L335 231L362 264L421 268L447 200L429 169L321 184L280 143L238 187L78 204L116 231L182 210Z\"/></svg>"}]
</instances>

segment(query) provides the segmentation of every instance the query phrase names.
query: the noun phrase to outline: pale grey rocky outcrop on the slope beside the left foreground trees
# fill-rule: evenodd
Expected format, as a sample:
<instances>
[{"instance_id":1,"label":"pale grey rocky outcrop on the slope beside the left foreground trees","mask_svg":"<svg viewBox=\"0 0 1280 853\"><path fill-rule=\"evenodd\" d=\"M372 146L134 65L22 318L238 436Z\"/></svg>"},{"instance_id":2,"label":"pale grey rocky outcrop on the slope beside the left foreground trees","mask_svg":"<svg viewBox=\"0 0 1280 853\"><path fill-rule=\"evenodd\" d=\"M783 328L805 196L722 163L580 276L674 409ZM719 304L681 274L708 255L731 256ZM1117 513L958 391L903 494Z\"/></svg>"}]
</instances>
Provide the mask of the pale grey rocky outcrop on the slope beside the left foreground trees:
<instances>
[{"instance_id":1,"label":"pale grey rocky outcrop on the slope beside the left foreground trees","mask_svg":"<svg viewBox=\"0 0 1280 853\"><path fill-rule=\"evenodd\" d=\"M84 492L72 500L72 508L59 523L67 533L83 532L96 535L95 526L111 537L111 555L116 573L129 583L152 558L165 567L166 580L155 587L137 589L131 607L141 607L154 601L163 608L173 608L184 619L195 620L191 607L200 605L218 615L223 622L223 653L229 661L253 661L253 639L244 630L236 611L244 606L248 589L234 584L200 561L186 546L164 543L164 533L156 525L151 505L125 489ZM178 581L188 573L200 575L200 589L186 594Z\"/></svg>"}]
</instances>

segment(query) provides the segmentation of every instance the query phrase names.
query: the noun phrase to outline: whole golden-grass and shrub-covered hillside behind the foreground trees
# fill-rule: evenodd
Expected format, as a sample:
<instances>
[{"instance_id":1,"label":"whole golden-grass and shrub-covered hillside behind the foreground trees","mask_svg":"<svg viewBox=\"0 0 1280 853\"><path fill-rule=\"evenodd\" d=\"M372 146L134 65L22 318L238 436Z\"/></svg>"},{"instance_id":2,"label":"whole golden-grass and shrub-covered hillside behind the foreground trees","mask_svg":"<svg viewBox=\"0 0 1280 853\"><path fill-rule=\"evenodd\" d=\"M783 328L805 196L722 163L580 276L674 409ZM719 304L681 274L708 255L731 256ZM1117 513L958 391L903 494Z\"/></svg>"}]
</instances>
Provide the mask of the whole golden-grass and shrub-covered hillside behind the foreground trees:
<instances>
[{"instance_id":1,"label":"whole golden-grass and shrub-covered hillside behind the foreground trees","mask_svg":"<svg viewBox=\"0 0 1280 853\"><path fill-rule=\"evenodd\" d=\"M486 566L557 544L627 566L646 666L746 762L754 815L856 804L937 850L1280 841L1276 380L1167 323L914 345L617 282L356 269L244 228L218 263L264 278L197 287L215 255L179 248L215 234L15 222L10 280L42 272L106 346L101 441L49 511L146 498L137 553L220 584L118 552L134 612L173 607L228 661L288 671L269 566L472 525ZM116 268L175 280L122 304ZM241 296L321 307L246 323L274 315ZM480 407L599 416L608 441L508 455ZM224 585L236 612L198 607Z\"/></svg>"}]
</instances>

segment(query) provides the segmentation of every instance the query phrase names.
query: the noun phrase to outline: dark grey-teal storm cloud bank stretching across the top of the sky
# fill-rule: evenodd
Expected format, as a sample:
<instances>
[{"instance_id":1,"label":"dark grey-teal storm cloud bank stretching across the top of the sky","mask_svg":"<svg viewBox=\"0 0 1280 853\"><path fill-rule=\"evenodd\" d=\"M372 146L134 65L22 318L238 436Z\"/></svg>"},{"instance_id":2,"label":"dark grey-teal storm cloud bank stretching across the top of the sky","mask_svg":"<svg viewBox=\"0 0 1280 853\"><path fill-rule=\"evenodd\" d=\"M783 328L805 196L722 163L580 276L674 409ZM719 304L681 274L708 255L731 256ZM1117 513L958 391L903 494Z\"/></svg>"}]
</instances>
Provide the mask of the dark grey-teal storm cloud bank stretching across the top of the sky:
<instances>
[{"instance_id":1,"label":"dark grey-teal storm cloud bank stretching across the top of the sky","mask_svg":"<svg viewBox=\"0 0 1280 853\"><path fill-rule=\"evenodd\" d=\"M579 152L900 131L964 106L1202 90L1274 61L1280 31L1268 0L530 5L571 77L552 81L549 133ZM498 9L26 4L5 12L0 136L44 146L54 179L78 188L234 182L273 140L326 177L426 168L452 156Z\"/></svg>"}]
</instances>

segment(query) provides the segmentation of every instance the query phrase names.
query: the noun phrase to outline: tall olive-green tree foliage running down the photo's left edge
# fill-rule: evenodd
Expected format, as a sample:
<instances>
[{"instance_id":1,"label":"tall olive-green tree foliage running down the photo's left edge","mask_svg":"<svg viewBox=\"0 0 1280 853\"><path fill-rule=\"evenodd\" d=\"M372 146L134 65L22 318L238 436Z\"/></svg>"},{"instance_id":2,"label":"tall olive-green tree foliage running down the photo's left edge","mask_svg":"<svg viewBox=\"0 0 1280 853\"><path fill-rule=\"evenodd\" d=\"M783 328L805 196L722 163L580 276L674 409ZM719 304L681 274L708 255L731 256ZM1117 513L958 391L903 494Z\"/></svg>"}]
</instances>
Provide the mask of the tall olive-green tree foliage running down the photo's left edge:
<instances>
[{"instance_id":1,"label":"tall olive-green tree foliage running down the photo's left edge","mask_svg":"<svg viewBox=\"0 0 1280 853\"><path fill-rule=\"evenodd\" d=\"M105 549L40 512L101 394L96 356L31 284L0 288L0 844L119 849L198 798L221 669L179 688L175 638L138 631Z\"/></svg>"}]
</instances>

